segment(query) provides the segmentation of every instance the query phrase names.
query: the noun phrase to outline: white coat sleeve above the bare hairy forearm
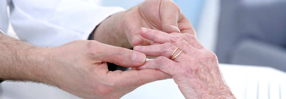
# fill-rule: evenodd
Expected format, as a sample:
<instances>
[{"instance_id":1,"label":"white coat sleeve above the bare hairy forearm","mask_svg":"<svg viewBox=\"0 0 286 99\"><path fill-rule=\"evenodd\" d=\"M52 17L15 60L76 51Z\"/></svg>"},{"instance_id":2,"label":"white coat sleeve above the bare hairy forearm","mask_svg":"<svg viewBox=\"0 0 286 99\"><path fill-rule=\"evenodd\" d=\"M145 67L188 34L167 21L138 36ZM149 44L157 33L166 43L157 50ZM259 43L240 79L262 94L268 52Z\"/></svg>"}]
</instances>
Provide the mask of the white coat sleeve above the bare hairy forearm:
<instances>
[{"instance_id":1,"label":"white coat sleeve above the bare hairy forearm","mask_svg":"<svg viewBox=\"0 0 286 99\"><path fill-rule=\"evenodd\" d=\"M12 0L11 23L20 38L55 47L87 39L94 28L120 7L100 7L88 0Z\"/></svg>"}]
</instances>

